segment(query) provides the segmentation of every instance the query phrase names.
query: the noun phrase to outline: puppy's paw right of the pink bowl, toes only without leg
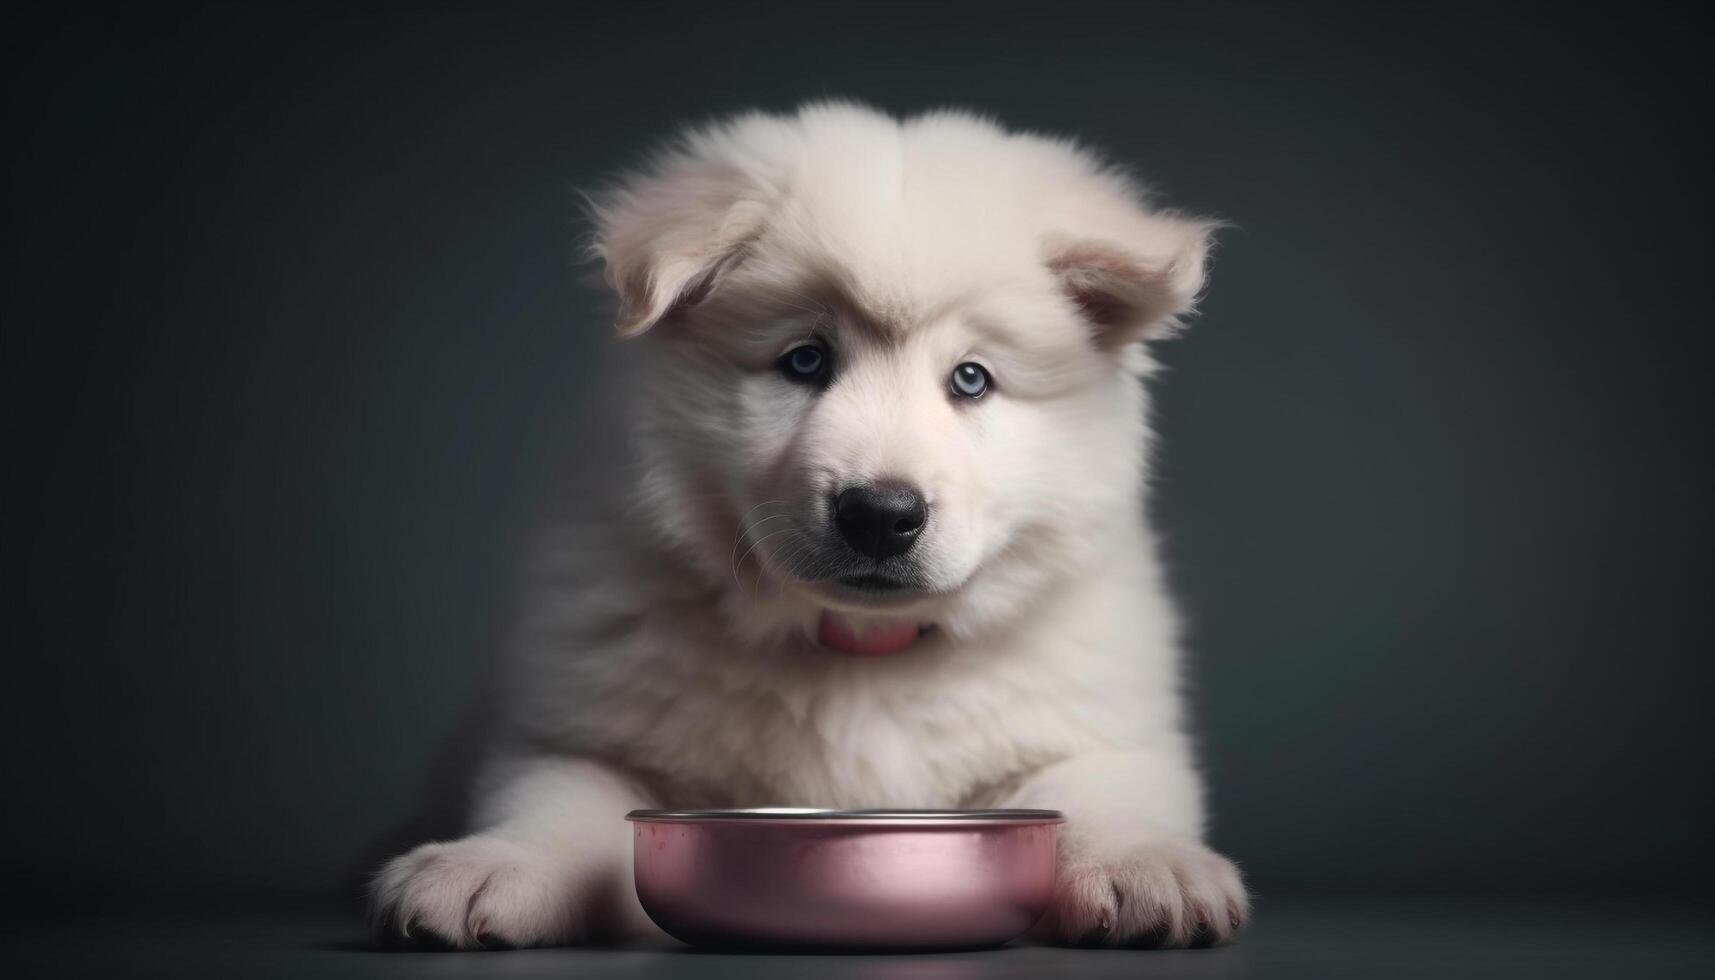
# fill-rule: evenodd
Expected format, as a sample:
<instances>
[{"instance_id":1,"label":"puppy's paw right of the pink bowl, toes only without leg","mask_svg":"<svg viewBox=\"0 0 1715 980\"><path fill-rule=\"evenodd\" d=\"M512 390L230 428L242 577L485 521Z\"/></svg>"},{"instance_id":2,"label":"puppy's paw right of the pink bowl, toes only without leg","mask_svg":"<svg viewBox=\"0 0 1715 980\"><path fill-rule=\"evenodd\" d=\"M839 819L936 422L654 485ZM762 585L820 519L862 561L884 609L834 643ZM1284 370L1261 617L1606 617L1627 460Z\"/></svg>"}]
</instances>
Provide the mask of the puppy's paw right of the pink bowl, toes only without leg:
<instances>
[{"instance_id":1,"label":"puppy's paw right of the pink bowl, toes only without leg","mask_svg":"<svg viewBox=\"0 0 1715 980\"><path fill-rule=\"evenodd\" d=\"M1068 855L1041 932L1072 946L1216 946L1249 913L1233 862L1192 841L1159 841L1101 858Z\"/></svg>"}]
</instances>

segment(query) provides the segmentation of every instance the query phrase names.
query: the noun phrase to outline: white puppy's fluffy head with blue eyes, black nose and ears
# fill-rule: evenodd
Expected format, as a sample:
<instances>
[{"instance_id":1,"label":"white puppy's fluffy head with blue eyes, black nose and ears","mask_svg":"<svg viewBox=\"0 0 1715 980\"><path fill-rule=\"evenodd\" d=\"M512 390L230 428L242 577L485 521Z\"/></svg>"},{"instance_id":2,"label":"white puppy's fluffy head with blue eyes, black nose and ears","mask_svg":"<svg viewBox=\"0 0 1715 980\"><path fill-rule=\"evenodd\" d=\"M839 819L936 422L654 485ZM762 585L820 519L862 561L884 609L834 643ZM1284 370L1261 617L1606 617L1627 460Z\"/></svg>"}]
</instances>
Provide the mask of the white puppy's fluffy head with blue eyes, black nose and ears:
<instances>
[{"instance_id":1,"label":"white puppy's fluffy head with blue eyes, black nose and ears","mask_svg":"<svg viewBox=\"0 0 1715 980\"><path fill-rule=\"evenodd\" d=\"M1140 510L1140 340L1211 223L1075 146L851 106L701 129L597 201L643 513L758 635L974 635Z\"/></svg>"}]
</instances>

